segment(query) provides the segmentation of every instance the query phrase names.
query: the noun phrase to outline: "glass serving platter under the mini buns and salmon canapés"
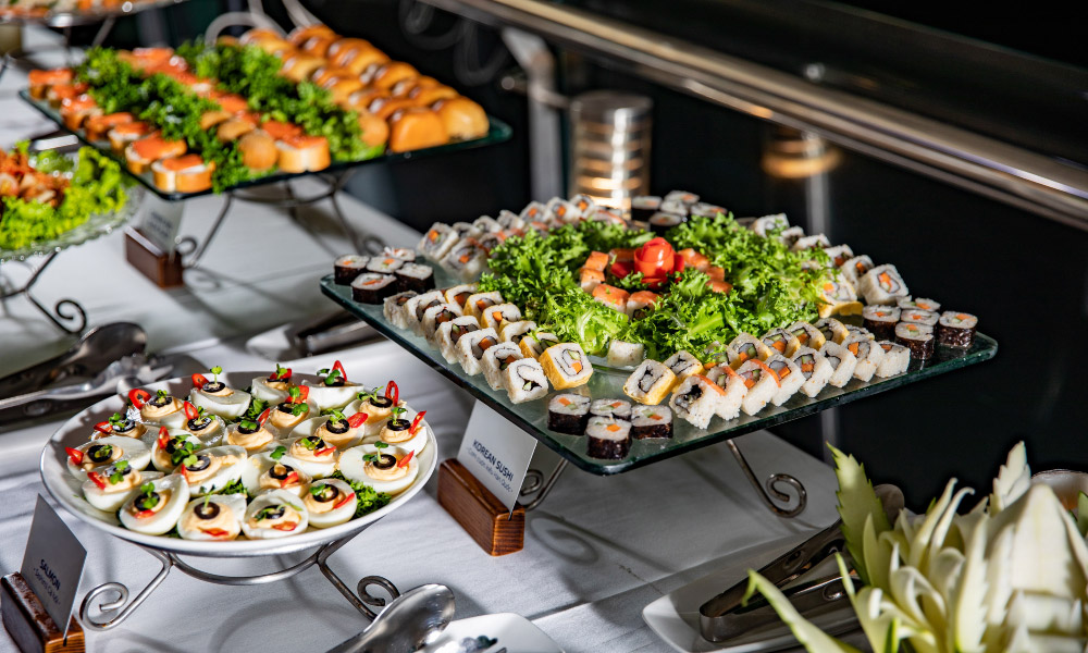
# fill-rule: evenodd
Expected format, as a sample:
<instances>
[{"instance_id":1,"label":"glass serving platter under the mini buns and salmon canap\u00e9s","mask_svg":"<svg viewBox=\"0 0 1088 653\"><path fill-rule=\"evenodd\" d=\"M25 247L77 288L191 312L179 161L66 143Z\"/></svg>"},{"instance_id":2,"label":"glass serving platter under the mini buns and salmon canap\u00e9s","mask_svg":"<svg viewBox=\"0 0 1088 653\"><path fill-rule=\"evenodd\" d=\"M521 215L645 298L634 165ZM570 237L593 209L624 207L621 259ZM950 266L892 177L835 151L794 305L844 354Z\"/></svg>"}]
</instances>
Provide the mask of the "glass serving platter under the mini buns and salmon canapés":
<instances>
[{"instance_id":1,"label":"glass serving platter under the mini buns and salmon canap\u00e9s","mask_svg":"<svg viewBox=\"0 0 1088 653\"><path fill-rule=\"evenodd\" d=\"M25 89L25 88L18 91L18 96L21 98L23 98L23 100L25 100L28 104L30 104L32 107L34 107L35 109L37 109L38 111L40 111L42 114L45 114L46 118L52 120L58 125L60 125L62 128L71 132L71 130L67 130L67 127L64 126L64 121L61 119L61 114L55 109L53 109L52 107L50 107L48 101L46 101L46 100L36 100L36 99L32 98L29 91L27 91L27 89ZM483 147L485 145L494 145L494 144L497 144L497 143L503 143L503 141L508 140L510 138L510 135L512 134L512 130L510 130L510 126L508 124L504 123L503 121L500 121L500 120L498 120L498 119L496 119L496 118L494 118L492 115L487 116L487 121L489 121L489 125L490 125L489 130L487 130L487 134L485 136L481 136L480 138L473 138L472 140L455 140L455 141L447 143L445 145L440 145L437 147L429 147L429 148L418 149L418 150L411 150L411 151L407 151L407 152L385 152L385 153L379 155L376 157L372 157L370 159L360 159L358 161L333 161L333 163L329 168L325 168L324 170L314 171L314 172L294 172L294 173L281 172L281 173L274 173L274 174L270 174L268 176L263 176L263 177L260 177L260 178L257 178L257 180L250 180L248 182L242 182L240 184L235 184L233 186L224 188L223 192L225 193L225 192L231 192L231 190L237 190L237 189L240 189L240 188L251 188L251 187L255 187L255 186L263 186L265 184L273 184L275 182L283 182L283 181L287 181L287 180L294 180L294 178L299 178L299 177L305 177L305 176L310 176L310 175L343 172L345 170L349 170L349 169L356 168L358 165L364 165L367 163L383 163L383 162L387 162L387 161L407 161L409 159L416 159L416 158L419 158L419 157L432 157L432 156L436 156L436 155L445 155L445 153L448 153L448 152L457 152L457 151L461 151L461 150L467 150L467 149L473 149L473 148L478 148L478 147ZM103 153L112 157L113 159L116 159L118 161L121 161L121 164L124 165L124 163L125 163L124 157L121 157L121 156L118 156L118 155L113 153L113 150L110 148L110 144L109 143L99 141L99 140L88 140L87 139L87 135L86 135L86 133L83 130L76 130L75 132L72 132L72 133L75 134L76 137L79 138L79 140L82 140L82 141L86 143L87 145L89 145L89 146L98 149L99 151L101 151L101 152L103 152ZM126 171L127 171L127 168L126 168ZM153 176L152 176L152 174L151 174L150 171L147 171L147 172L145 172L143 174L133 174L132 172L129 172L128 174L132 175L133 177L135 177L136 180L138 180L139 183L143 184L144 186L146 186L148 190L150 190L151 193L154 193L156 195L158 195L162 199L165 199L166 201L176 201L176 200L181 200L181 199L188 199L190 197L200 197L202 195L212 195L214 193L211 189L201 190L199 193L166 193L166 192L160 190L159 188L156 187L154 181L153 181Z\"/></svg>"}]
</instances>

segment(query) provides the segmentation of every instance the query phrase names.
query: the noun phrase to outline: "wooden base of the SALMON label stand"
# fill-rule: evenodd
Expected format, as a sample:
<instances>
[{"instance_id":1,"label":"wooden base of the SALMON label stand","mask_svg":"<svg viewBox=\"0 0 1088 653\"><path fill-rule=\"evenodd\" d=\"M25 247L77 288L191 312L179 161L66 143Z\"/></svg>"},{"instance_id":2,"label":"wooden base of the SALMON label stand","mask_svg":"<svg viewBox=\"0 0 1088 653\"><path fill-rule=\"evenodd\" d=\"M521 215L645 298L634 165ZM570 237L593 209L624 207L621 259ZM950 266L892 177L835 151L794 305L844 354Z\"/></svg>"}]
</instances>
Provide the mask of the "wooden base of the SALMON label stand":
<instances>
[{"instance_id":1,"label":"wooden base of the SALMON label stand","mask_svg":"<svg viewBox=\"0 0 1088 653\"><path fill-rule=\"evenodd\" d=\"M67 637L46 612L41 600L17 571L0 579L3 626L23 653L83 653L83 629L75 617Z\"/></svg>"}]
</instances>

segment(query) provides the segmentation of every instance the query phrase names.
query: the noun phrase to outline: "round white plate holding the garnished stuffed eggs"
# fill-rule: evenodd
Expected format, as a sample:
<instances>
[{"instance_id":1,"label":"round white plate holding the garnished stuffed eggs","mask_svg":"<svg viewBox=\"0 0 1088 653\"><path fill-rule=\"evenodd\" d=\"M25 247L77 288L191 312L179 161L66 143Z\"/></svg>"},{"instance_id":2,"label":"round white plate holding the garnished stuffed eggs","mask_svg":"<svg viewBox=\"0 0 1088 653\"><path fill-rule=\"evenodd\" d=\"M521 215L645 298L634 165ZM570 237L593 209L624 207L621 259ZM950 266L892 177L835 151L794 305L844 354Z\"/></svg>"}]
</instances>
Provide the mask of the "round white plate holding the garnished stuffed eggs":
<instances>
[{"instance_id":1,"label":"round white plate holding the garnished stuffed eggs","mask_svg":"<svg viewBox=\"0 0 1088 653\"><path fill-rule=\"evenodd\" d=\"M257 377L267 375L264 372L227 372L220 374L231 387L244 390ZM318 377L312 374L295 374L298 381L317 381ZM165 390L176 397L188 396L191 389L191 380L188 377L160 381L143 386L150 393L157 390ZM57 500L57 503L64 506L70 513L78 517L89 526L98 530L110 533L123 540L128 540L143 546L160 549L186 555L202 555L213 557L236 557L236 556L258 556L273 553L290 553L312 549L321 544L341 540L354 535L367 526L385 517L393 510L407 503L412 496L419 493L426 484L426 481L434 473L437 463L437 443L434 439L434 431L426 424L428 446L419 455L419 477L416 482L393 497L388 505L364 515L358 519L353 519L346 523L326 529L308 529L298 535L280 538L275 540L231 540L230 542L199 542L194 540L181 540L178 538L168 538L164 535L145 535L118 526L114 515L103 513L92 507L83 496L79 481L67 471L67 455L64 453L65 446L75 447L87 442L94 426L100 421L109 419L114 412L124 409L126 397L120 395L112 396L95 404L94 406L76 414L72 419L64 422L41 452L41 481L46 485L49 494Z\"/></svg>"}]
</instances>

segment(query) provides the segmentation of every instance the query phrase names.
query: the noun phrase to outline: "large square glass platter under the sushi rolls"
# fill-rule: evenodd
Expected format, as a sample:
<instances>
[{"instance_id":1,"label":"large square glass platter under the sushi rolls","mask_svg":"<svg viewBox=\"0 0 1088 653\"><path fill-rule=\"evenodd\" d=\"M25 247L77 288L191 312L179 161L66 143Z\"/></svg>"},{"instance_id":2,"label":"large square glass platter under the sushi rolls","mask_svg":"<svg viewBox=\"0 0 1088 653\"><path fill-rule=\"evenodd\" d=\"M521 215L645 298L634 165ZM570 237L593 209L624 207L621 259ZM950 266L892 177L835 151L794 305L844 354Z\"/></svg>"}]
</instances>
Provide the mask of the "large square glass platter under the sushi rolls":
<instances>
[{"instance_id":1,"label":"large square glass platter under the sushi rolls","mask_svg":"<svg viewBox=\"0 0 1088 653\"><path fill-rule=\"evenodd\" d=\"M435 268L436 276L440 275L440 272L442 270ZM436 282L440 282L440 286L442 281L441 276L436 279ZM555 390L549 392L548 396L543 399L527 402L524 404L511 404L506 391L492 390L487 385L487 381L483 374L467 375L459 365L446 362L438 349L432 347L422 337L417 336L411 331L393 326L382 315L382 305L359 304L351 299L351 287L337 285L333 282L332 274L321 280L321 292L359 319L364 320L393 342L408 349L408 352L420 360L437 369L471 393L477 399L498 411L520 429L544 443L548 448L585 471L599 476L629 471L724 440L767 429L879 392L982 362L984 360L993 358L998 352L997 341L981 333L976 333L975 344L969 349L953 349L938 346L932 359L924 364L912 360L911 367L906 372L888 379L874 377L873 381L867 383L857 379L851 379L850 383L844 387L826 386L816 398L808 398L799 392L781 406L768 404L766 408L755 416L742 412L739 418L729 421L715 417L710 420L709 428L706 430L696 429L687 421L677 418L672 424L672 438L632 440L631 452L626 458L620 460L603 460L586 455L585 436L557 433L547 428L547 401L555 394ZM595 359L591 360L594 362L594 372L589 383L581 386L581 390L574 389L565 392L581 392L597 399L627 399L627 395L623 394L623 382L630 375L631 369L608 368L597 365Z\"/></svg>"}]
</instances>

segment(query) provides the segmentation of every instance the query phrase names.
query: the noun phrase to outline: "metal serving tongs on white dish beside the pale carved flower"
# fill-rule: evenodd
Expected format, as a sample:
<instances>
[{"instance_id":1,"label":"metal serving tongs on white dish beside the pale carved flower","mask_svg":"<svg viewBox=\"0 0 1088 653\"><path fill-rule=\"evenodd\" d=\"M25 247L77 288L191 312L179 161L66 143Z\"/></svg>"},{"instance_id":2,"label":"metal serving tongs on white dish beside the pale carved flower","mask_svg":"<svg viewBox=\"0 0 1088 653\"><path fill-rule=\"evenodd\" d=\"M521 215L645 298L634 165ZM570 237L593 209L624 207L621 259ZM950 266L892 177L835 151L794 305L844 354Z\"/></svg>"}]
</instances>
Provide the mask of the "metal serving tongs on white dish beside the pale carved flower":
<instances>
[{"instance_id":1,"label":"metal serving tongs on white dish beside the pale carved flower","mask_svg":"<svg viewBox=\"0 0 1088 653\"><path fill-rule=\"evenodd\" d=\"M903 508L902 491L894 485L878 485L876 491L885 512L894 520ZM860 581L846 551L841 519L770 562L759 574L781 589L802 615L831 612L846 600L842 577L832 563L837 553L842 554L850 568L850 582L857 587ZM814 578L802 580L805 576ZM722 642L778 621L778 614L763 597L741 605L747 586L747 579L741 580L700 606L698 629L703 639Z\"/></svg>"}]
</instances>

